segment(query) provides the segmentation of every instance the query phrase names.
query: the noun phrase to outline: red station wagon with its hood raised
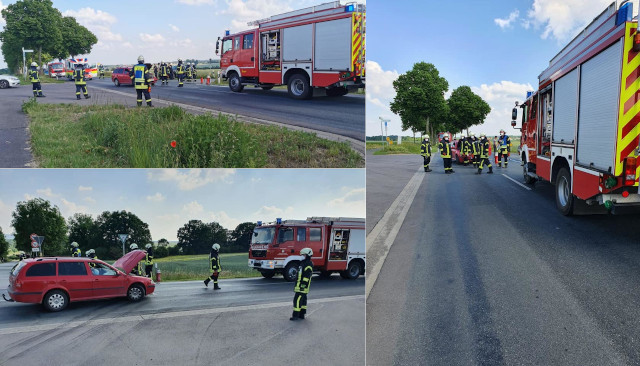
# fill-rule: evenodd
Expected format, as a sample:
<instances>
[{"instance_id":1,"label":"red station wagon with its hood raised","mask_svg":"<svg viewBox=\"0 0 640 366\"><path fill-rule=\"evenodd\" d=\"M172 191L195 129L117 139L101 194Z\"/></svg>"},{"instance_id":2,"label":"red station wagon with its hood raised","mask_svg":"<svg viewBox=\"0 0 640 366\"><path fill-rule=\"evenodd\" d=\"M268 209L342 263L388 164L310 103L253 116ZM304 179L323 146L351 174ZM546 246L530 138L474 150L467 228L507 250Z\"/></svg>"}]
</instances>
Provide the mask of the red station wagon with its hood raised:
<instances>
[{"instance_id":1,"label":"red station wagon with its hood raised","mask_svg":"<svg viewBox=\"0 0 640 366\"><path fill-rule=\"evenodd\" d=\"M11 270L9 296L17 302L41 303L49 311L63 310L72 301L124 296L140 301L156 287L150 278L129 274L145 254L134 250L113 266L91 258L24 259Z\"/></svg>"}]
</instances>

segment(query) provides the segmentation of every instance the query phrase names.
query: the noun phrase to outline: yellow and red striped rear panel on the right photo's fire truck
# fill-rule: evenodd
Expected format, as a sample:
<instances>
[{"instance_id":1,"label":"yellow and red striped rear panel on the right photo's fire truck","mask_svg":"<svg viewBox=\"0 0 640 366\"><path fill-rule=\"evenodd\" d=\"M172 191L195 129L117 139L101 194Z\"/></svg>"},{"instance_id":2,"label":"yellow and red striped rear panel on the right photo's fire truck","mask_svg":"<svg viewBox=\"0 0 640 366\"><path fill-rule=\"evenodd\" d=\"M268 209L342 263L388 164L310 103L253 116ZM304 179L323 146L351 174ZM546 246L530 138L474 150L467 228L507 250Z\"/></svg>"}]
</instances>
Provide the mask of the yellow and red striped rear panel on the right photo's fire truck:
<instances>
[{"instance_id":1,"label":"yellow and red striped rear panel on the right photo's fire truck","mask_svg":"<svg viewBox=\"0 0 640 366\"><path fill-rule=\"evenodd\" d=\"M627 22L622 57L622 82L620 83L620 114L618 116L618 141L616 142L615 175L624 171L624 158L635 156L635 149L640 139L640 103L638 89L640 86L640 57L634 52L633 35L637 23ZM640 166L638 167L640 170ZM636 172L638 176L638 172ZM635 185L638 185L636 181Z\"/></svg>"}]
</instances>

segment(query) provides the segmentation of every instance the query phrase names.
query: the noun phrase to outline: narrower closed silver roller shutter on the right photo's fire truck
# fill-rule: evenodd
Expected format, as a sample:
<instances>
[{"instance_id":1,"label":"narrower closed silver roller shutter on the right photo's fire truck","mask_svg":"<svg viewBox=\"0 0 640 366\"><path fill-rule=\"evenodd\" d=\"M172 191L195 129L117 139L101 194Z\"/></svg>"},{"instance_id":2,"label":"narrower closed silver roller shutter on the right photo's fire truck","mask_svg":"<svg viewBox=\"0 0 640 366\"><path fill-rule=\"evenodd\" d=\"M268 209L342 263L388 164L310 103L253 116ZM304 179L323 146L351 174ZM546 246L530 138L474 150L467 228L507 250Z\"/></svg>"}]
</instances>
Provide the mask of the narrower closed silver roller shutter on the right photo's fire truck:
<instances>
[{"instance_id":1,"label":"narrower closed silver roller shutter on the right photo's fire truck","mask_svg":"<svg viewBox=\"0 0 640 366\"><path fill-rule=\"evenodd\" d=\"M555 83L553 104L553 142L573 144L578 103L578 69Z\"/></svg>"}]
</instances>

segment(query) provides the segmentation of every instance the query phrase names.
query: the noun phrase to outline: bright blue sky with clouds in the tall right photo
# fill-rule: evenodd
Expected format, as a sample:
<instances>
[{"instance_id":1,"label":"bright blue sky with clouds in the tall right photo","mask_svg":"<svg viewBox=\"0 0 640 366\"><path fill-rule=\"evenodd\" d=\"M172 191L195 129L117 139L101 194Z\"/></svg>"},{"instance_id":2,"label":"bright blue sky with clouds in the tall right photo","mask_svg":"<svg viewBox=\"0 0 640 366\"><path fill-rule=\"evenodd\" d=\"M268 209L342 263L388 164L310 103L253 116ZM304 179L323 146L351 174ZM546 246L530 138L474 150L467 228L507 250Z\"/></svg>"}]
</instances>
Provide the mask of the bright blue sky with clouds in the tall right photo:
<instances>
[{"instance_id":1,"label":"bright blue sky with clouds in the tall right photo","mask_svg":"<svg viewBox=\"0 0 640 366\"><path fill-rule=\"evenodd\" d=\"M367 135L380 134L379 117L391 120L392 82L420 61L433 63L449 93L468 85L492 107L471 130L512 130L511 109L549 60L612 0L377 1L367 8ZM637 3L634 1L635 12ZM447 95L448 97L448 95ZM404 133L411 135L410 131Z\"/></svg>"}]
</instances>

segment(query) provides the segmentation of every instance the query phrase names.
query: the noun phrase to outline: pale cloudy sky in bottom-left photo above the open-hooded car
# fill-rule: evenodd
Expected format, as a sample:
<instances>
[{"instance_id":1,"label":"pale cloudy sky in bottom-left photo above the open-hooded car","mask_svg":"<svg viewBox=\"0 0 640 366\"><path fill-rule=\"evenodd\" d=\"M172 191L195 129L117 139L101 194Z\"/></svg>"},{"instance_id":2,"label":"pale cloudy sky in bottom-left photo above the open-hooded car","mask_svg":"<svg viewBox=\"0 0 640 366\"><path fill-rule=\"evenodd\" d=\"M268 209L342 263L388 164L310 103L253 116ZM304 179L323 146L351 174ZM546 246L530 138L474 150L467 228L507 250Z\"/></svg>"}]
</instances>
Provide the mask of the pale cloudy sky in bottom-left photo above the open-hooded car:
<instances>
[{"instance_id":1,"label":"pale cloudy sky in bottom-left photo above the open-hooded car","mask_svg":"<svg viewBox=\"0 0 640 366\"><path fill-rule=\"evenodd\" d=\"M276 217L365 217L364 169L0 169L0 227L19 201L41 197L65 219L127 210L154 240L176 240L191 219L227 229Z\"/></svg>"}]
</instances>

